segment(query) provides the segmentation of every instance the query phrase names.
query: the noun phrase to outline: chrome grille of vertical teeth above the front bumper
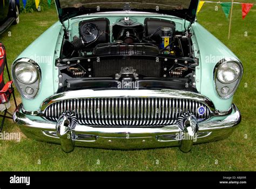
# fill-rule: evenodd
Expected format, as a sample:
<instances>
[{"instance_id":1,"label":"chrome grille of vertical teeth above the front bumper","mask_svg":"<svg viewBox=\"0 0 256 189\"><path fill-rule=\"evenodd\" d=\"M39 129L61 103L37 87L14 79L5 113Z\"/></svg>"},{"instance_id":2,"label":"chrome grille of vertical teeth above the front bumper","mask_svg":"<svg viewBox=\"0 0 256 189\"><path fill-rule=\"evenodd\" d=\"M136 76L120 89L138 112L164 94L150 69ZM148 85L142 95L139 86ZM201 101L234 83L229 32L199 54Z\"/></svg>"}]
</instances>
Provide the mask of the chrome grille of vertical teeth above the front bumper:
<instances>
[{"instance_id":1,"label":"chrome grille of vertical teeth above the front bumper","mask_svg":"<svg viewBox=\"0 0 256 189\"><path fill-rule=\"evenodd\" d=\"M198 114L198 107L205 114ZM210 117L208 107L196 100L176 98L85 98L67 99L46 107L44 116L56 122L62 112L72 111L80 125L160 126L176 123L181 113L190 111L198 119Z\"/></svg>"}]
</instances>

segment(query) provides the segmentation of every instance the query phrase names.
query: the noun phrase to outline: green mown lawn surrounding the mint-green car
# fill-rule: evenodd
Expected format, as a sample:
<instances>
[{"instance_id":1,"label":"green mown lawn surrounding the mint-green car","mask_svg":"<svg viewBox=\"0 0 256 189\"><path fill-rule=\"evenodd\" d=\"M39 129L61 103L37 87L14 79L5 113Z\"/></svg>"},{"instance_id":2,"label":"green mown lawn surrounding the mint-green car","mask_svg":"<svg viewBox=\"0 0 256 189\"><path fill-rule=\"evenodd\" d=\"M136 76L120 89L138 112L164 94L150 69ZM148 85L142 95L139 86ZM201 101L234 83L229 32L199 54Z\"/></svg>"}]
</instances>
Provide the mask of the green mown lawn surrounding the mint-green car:
<instances>
[{"instance_id":1,"label":"green mown lawn surrounding the mint-green car","mask_svg":"<svg viewBox=\"0 0 256 189\"><path fill-rule=\"evenodd\" d=\"M248 0L244 2L252 2ZM190 153L182 153L178 147L116 151L76 147L72 153L64 153L59 145L48 144L22 137L21 142L0 141L1 171L255 171L255 57L256 57L256 6L244 21L241 5L234 5L231 39L227 39L228 21L219 6L203 6L198 22L228 46L243 62L244 77L234 97L234 103L242 114L242 122L227 139L215 143L193 146ZM11 26L0 36L6 46L8 63L33 40L57 21L54 8L42 13L22 14L21 23ZM248 37L244 32L248 32ZM49 44L50 45L50 44ZM245 87L247 83L248 87ZM19 100L20 101L20 100ZM17 125L8 120L4 131L18 132ZM245 134L248 138L245 139ZM38 164L38 160L41 164ZM98 163L99 160L99 164ZM218 160L218 164L215 161ZM156 164L156 162L159 164Z\"/></svg>"}]
</instances>

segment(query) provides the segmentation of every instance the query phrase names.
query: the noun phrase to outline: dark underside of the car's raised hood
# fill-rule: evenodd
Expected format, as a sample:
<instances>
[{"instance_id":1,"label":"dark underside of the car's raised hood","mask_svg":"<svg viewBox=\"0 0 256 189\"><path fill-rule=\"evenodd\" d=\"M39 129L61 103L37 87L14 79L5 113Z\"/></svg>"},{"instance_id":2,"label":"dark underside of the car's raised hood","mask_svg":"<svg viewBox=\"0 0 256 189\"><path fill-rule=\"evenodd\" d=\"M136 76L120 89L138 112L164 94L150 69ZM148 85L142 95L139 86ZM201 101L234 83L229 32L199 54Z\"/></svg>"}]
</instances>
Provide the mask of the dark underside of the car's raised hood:
<instances>
[{"instance_id":1,"label":"dark underside of the car's raised hood","mask_svg":"<svg viewBox=\"0 0 256 189\"><path fill-rule=\"evenodd\" d=\"M55 0L60 22L84 14L107 11L140 11L154 12L177 16L194 22L199 0Z\"/></svg>"}]
</instances>

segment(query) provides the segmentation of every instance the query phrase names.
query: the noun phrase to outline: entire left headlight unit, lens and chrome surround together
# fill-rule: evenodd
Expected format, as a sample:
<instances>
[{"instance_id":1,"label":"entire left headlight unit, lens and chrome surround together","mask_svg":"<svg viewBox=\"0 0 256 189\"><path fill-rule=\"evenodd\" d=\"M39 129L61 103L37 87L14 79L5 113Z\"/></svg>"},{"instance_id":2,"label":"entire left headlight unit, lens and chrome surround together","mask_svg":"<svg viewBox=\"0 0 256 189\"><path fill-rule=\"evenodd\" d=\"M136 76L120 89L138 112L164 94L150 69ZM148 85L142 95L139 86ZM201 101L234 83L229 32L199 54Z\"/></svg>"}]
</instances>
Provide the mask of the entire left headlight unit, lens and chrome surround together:
<instances>
[{"instance_id":1,"label":"entire left headlight unit, lens and chrome surround together","mask_svg":"<svg viewBox=\"0 0 256 189\"><path fill-rule=\"evenodd\" d=\"M35 98L41 82L38 64L29 58L20 58L12 64L11 70L12 79L19 93L26 99Z\"/></svg>"}]
</instances>

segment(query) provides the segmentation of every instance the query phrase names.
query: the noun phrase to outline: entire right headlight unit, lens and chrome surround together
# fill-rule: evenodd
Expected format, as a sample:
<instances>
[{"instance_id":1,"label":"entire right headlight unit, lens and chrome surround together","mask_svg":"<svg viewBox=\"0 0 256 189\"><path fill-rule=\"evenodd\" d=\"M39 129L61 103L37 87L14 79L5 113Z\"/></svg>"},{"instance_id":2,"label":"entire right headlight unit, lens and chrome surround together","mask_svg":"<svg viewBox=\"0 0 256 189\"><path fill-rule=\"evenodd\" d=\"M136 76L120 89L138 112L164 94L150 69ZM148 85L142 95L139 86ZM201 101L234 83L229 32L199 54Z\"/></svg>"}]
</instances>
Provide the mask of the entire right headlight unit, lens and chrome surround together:
<instances>
[{"instance_id":1,"label":"entire right headlight unit, lens and chrome surround together","mask_svg":"<svg viewBox=\"0 0 256 189\"><path fill-rule=\"evenodd\" d=\"M242 64L237 59L226 58L215 66L214 80L219 97L227 99L234 95L242 77Z\"/></svg>"}]
</instances>

